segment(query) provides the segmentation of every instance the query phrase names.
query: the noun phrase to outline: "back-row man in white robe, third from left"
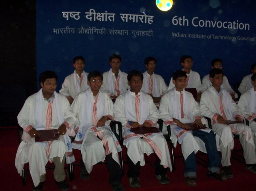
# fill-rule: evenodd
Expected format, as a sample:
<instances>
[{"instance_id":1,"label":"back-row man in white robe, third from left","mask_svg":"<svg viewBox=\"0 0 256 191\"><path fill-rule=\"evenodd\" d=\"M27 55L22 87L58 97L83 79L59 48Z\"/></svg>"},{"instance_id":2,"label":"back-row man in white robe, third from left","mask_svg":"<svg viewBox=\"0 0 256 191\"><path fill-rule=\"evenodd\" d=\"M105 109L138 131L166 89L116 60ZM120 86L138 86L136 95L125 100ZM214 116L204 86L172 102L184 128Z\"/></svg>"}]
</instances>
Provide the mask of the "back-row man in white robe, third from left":
<instances>
[{"instance_id":1,"label":"back-row man in white robe, third from left","mask_svg":"<svg viewBox=\"0 0 256 191\"><path fill-rule=\"evenodd\" d=\"M144 60L147 71L143 73L142 91L148 93L153 98L154 103L160 103L161 97L167 91L165 80L155 74L157 60L154 57L147 57Z\"/></svg>"}]
</instances>

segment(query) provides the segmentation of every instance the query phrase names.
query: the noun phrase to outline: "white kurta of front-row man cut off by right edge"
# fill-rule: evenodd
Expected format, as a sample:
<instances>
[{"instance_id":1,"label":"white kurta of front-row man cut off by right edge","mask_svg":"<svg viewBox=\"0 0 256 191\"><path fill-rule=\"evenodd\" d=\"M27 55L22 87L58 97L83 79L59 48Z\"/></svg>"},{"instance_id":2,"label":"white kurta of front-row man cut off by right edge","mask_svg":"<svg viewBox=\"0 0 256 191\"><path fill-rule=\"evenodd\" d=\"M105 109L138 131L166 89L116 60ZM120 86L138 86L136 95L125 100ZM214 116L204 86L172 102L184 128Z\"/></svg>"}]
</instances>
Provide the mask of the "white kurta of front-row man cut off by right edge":
<instances>
[{"instance_id":1,"label":"white kurta of front-row man cut off by right edge","mask_svg":"<svg viewBox=\"0 0 256 191\"><path fill-rule=\"evenodd\" d=\"M253 121L253 119L256 118L256 105L255 103L250 102L250 97L251 97L251 87L249 90L244 92L238 101L238 107L240 108L241 112L244 114L245 118L249 121L249 126L251 128L251 131L254 133L254 139L256 141L256 122ZM256 99L256 91L254 91L254 99ZM255 108L253 112L249 111L249 108L252 106Z\"/></svg>"}]
</instances>

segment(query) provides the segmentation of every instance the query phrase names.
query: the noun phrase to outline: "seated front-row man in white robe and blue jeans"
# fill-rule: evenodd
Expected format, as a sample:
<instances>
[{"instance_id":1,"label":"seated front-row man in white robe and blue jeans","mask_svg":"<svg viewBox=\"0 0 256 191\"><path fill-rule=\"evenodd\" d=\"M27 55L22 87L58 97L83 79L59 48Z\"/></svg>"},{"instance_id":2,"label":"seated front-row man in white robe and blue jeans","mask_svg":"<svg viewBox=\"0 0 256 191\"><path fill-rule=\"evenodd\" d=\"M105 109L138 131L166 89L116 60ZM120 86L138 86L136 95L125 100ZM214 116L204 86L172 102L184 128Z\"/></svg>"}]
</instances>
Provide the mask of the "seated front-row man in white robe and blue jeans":
<instances>
[{"instance_id":1,"label":"seated front-row man in white robe and blue jeans","mask_svg":"<svg viewBox=\"0 0 256 191\"><path fill-rule=\"evenodd\" d=\"M171 138L181 144L185 164L186 184L196 185L196 158L195 153L198 150L208 153L208 173L209 177L215 177L218 180L227 180L220 172L220 157L216 147L215 134L211 129L198 129L189 131L187 123L196 124L199 128L203 127L206 120L201 118L199 106L191 93L184 90L186 87L186 72L175 71L173 73L173 83L175 88L168 91L161 99L159 105L160 119L164 120L166 125L171 125ZM197 142L195 137L202 140ZM200 149L201 146L201 149ZM202 149L203 148L203 149ZM205 149L204 149L205 148Z\"/></svg>"}]
</instances>

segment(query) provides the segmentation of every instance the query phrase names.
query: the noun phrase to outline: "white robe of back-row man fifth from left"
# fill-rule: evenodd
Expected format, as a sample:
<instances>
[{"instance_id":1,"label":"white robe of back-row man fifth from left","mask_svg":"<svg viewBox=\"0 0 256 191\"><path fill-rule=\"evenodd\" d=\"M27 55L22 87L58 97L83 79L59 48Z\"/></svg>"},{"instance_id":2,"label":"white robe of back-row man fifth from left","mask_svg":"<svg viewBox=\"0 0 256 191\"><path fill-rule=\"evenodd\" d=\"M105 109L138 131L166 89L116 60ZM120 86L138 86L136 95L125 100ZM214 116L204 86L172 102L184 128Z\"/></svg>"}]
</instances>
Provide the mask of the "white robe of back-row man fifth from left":
<instances>
[{"instance_id":1,"label":"white robe of back-row man fifth from left","mask_svg":"<svg viewBox=\"0 0 256 191\"><path fill-rule=\"evenodd\" d=\"M203 77L202 80L202 92L204 90L207 90L208 88L210 88L210 86L212 85L212 82L210 81L210 74L206 75L205 77ZM237 93L231 88L229 82L228 82L228 78L226 76L223 76L223 83L222 83L222 88L224 88L225 90L227 90L230 94L234 94L236 98L238 98Z\"/></svg>"}]
</instances>

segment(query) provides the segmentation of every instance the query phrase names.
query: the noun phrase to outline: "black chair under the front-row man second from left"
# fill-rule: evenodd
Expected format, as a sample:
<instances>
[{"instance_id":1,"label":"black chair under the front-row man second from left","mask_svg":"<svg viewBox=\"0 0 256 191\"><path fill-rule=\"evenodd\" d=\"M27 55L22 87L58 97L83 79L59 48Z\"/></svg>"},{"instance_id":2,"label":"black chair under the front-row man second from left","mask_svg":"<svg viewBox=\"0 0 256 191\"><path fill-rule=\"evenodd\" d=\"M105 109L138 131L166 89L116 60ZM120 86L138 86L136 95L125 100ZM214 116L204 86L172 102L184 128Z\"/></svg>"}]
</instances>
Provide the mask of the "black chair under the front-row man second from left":
<instances>
[{"instance_id":1,"label":"black chair under the front-row man second from left","mask_svg":"<svg viewBox=\"0 0 256 191\"><path fill-rule=\"evenodd\" d=\"M118 125L118 133L115 131L116 130L116 125ZM123 134L122 134L122 123L120 121L111 121L110 124L109 124L112 132L115 134L118 142L120 143L120 138L123 137ZM119 127L121 127L121 131L119 131ZM74 138L71 139L72 141L74 140ZM120 143L121 144L121 143ZM121 165L121 171L122 171L122 175L124 174L123 170L124 170L124 164L123 164L123 151L120 152L120 165ZM81 161L82 162L82 161ZM99 162L97 164L106 164L106 162ZM76 163L76 164L73 164L71 163L70 164L70 168L69 168L69 178L70 178L70 181L72 181L74 179L74 166L80 166L81 163Z\"/></svg>"}]
</instances>

